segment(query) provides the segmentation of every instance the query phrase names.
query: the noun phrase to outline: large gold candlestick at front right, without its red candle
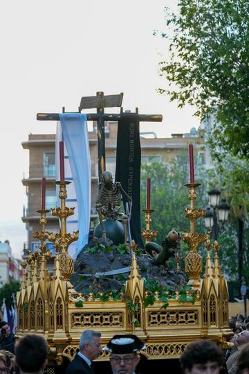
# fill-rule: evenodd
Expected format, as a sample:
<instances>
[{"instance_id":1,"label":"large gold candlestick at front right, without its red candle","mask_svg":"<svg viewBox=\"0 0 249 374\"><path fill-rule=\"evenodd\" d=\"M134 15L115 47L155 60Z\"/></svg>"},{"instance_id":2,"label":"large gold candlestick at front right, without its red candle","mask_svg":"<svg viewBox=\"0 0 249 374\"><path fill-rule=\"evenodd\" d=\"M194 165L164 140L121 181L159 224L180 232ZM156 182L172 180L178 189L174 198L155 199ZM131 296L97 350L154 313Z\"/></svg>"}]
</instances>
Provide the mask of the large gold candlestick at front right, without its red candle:
<instances>
[{"instance_id":1,"label":"large gold candlestick at front right, without its red candle","mask_svg":"<svg viewBox=\"0 0 249 374\"><path fill-rule=\"evenodd\" d=\"M205 243L208 240L208 236L203 233L197 234L196 219L205 216L205 210L199 208L196 210L196 187L199 187L199 183L188 183L185 185L189 189L190 207L185 209L186 216L190 219L190 232L185 230L183 232L183 241L190 244L190 252L185 257L185 273L189 277L188 284L194 288L199 288L201 285L200 274L202 270L201 256L198 253L198 247L200 244Z\"/></svg>"}]
</instances>

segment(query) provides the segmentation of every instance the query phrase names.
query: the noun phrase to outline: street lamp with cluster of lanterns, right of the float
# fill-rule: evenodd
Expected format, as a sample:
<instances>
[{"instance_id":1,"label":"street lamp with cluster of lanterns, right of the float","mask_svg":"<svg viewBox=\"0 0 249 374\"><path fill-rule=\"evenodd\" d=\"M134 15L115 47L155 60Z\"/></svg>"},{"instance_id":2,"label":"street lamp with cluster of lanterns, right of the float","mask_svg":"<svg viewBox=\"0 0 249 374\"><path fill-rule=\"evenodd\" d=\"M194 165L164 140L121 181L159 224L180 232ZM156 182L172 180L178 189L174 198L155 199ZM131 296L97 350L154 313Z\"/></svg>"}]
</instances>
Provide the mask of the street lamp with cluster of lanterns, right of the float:
<instances>
[{"instance_id":1,"label":"street lamp with cluster of lanterns, right of the float","mask_svg":"<svg viewBox=\"0 0 249 374\"><path fill-rule=\"evenodd\" d=\"M207 208L204 222L205 222L205 228L208 228L209 230L212 230L214 240L218 239L219 236L219 221L221 223L224 223L225 221L228 221L228 212L230 210L230 205L226 203L225 200L220 201L221 192L217 188L210 189L208 192L210 206L213 208L211 210L210 207ZM218 211L218 214L217 214ZM218 218L217 218L218 215Z\"/></svg>"}]
</instances>

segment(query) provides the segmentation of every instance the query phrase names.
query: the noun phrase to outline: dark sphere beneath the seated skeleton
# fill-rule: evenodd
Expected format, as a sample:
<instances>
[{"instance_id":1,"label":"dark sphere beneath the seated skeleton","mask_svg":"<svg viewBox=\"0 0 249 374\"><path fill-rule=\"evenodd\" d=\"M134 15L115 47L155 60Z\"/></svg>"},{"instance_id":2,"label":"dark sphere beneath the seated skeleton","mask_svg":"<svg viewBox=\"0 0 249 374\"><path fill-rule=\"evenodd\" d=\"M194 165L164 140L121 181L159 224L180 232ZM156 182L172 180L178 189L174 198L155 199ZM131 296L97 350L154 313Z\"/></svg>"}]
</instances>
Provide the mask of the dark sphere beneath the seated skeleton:
<instances>
[{"instance_id":1,"label":"dark sphere beneath the seated skeleton","mask_svg":"<svg viewBox=\"0 0 249 374\"><path fill-rule=\"evenodd\" d=\"M118 246L118 244L124 244L124 226L120 221L115 221L113 219L104 219L104 228L107 231L107 238L113 241L113 244ZM100 222L95 226L94 237L101 239L102 237L102 228Z\"/></svg>"}]
</instances>

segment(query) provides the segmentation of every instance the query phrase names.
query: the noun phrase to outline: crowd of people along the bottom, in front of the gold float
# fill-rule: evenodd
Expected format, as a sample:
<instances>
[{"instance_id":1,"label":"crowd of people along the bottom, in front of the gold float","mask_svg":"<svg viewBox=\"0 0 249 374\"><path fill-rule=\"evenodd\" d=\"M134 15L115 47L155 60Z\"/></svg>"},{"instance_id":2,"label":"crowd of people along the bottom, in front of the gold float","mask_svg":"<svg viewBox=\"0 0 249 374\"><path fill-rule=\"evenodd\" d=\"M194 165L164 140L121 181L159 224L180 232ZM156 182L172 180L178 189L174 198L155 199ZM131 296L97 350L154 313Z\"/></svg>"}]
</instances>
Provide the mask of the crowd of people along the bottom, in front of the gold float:
<instances>
[{"instance_id":1,"label":"crowd of people along the bottom, in front of the gold float","mask_svg":"<svg viewBox=\"0 0 249 374\"><path fill-rule=\"evenodd\" d=\"M238 315L230 348L224 352L210 339L193 341L183 351L180 364L183 374L249 374L248 322ZM237 329L237 322L243 329ZM42 374L48 364L48 345L39 334L26 334L15 341L8 323L0 323L0 374ZM110 352L113 374L134 374L140 362L139 352L145 350L134 334L115 335L107 346L101 345L101 334L85 330L80 338L80 350L68 364L66 374L94 374L92 362L102 350ZM162 368L167 373L167 366ZM97 373L96 373L97 374ZM104 374L102 371L101 374Z\"/></svg>"}]
</instances>

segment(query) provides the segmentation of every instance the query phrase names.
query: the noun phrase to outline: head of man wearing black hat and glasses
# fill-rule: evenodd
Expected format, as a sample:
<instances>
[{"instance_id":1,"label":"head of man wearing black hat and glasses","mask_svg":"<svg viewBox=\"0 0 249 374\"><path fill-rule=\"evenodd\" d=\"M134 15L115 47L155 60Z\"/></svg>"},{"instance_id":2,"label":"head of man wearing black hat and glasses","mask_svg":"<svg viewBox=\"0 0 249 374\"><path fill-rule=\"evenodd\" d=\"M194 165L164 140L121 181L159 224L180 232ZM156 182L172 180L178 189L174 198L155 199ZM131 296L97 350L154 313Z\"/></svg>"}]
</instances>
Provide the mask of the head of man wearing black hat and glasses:
<instances>
[{"instance_id":1,"label":"head of man wearing black hat and glasses","mask_svg":"<svg viewBox=\"0 0 249 374\"><path fill-rule=\"evenodd\" d=\"M139 362L137 351L145 348L136 335L115 335L107 348L111 351L113 374L133 374Z\"/></svg>"}]
</instances>

